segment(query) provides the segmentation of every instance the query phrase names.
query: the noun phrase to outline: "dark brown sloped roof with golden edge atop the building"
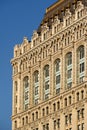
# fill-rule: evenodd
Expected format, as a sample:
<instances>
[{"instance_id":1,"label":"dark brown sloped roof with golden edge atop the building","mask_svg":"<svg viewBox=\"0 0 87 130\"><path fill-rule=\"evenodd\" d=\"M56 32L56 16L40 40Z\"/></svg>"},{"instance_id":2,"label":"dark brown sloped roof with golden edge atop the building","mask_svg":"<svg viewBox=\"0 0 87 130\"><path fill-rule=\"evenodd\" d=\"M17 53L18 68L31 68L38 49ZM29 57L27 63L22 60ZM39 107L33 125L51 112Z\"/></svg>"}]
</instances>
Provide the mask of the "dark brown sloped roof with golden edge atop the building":
<instances>
[{"instance_id":1,"label":"dark brown sloped roof with golden edge atop the building","mask_svg":"<svg viewBox=\"0 0 87 130\"><path fill-rule=\"evenodd\" d=\"M37 32L40 33L41 32L41 25L43 25L44 23L48 23L48 26L51 26L51 19L54 18L55 15L58 15L58 18L62 21L63 20L63 14L62 12L65 11L66 8L70 8L70 11L72 13L74 13L74 9L73 9L73 5L75 4L79 0L57 0L54 4L52 4L51 6L49 6L46 9L46 13L44 15L44 18L40 24L40 26L38 27ZM87 5L87 0L81 0L83 2L83 4Z\"/></svg>"}]
</instances>

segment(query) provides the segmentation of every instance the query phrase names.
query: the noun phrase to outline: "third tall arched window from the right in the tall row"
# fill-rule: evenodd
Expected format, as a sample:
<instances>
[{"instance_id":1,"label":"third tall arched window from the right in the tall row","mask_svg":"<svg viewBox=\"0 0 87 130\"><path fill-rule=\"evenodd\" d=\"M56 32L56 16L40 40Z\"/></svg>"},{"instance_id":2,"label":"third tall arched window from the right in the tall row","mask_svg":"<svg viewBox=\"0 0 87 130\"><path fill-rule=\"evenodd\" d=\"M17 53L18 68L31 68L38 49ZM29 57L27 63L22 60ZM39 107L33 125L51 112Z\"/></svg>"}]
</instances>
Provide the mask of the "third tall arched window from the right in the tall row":
<instances>
[{"instance_id":1,"label":"third tall arched window from the right in the tall row","mask_svg":"<svg viewBox=\"0 0 87 130\"><path fill-rule=\"evenodd\" d=\"M55 90L56 94L60 92L60 59L55 61Z\"/></svg>"}]
</instances>

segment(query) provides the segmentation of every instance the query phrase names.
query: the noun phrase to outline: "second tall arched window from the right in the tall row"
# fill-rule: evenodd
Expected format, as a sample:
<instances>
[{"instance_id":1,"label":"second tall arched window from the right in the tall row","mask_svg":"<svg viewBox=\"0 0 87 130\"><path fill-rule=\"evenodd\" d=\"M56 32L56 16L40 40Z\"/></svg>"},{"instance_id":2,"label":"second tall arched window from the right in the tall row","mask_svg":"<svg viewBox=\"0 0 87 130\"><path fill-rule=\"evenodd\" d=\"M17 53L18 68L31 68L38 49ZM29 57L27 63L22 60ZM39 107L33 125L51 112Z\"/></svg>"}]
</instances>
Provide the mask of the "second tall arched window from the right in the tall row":
<instances>
[{"instance_id":1,"label":"second tall arched window from the right in the tall row","mask_svg":"<svg viewBox=\"0 0 87 130\"><path fill-rule=\"evenodd\" d=\"M66 88L71 88L72 86L72 53L66 54L65 58L65 78L66 78Z\"/></svg>"}]
</instances>

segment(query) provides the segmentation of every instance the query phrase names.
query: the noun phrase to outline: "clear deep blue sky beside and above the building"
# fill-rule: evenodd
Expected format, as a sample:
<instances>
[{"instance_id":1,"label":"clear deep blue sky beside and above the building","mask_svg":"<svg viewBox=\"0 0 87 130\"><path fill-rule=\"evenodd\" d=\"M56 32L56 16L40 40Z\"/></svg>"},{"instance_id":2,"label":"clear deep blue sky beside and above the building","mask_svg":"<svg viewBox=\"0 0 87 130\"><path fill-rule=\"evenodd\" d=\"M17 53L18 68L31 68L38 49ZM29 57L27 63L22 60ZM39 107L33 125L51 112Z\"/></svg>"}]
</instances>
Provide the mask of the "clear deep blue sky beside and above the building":
<instances>
[{"instance_id":1,"label":"clear deep blue sky beside and above the building","mask_svg":"<svg viewBox=\"0 0 87 130\"><path fill-rule=\"evenodd\" d=\"M0 130L11 130L13 47L31 39L45 9L57 0L0 0Z\"/></svg>"}]
</instances>

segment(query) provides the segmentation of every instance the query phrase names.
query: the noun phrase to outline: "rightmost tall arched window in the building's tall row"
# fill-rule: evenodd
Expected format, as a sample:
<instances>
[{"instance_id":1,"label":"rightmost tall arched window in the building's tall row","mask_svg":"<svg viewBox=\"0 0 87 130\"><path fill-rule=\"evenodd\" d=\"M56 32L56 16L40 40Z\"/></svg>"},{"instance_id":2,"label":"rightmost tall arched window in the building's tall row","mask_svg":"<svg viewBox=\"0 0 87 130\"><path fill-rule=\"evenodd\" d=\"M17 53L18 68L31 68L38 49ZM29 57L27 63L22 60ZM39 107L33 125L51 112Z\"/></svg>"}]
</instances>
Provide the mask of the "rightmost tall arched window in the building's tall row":
<instances>
[{"instance_id":1,"label":"rightmost tall arched window in the building's tall row","mask_svg":"<svg viewBox=\"0 0 87 130\"><path fill-rule=\"evenodd\" d=\"M84 46L81 45L77 50L77 82L83 82L85 70Z\"/></svg>"}]
</instances>

